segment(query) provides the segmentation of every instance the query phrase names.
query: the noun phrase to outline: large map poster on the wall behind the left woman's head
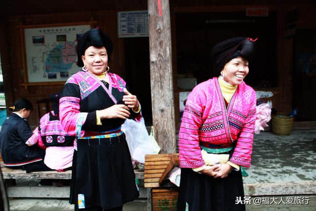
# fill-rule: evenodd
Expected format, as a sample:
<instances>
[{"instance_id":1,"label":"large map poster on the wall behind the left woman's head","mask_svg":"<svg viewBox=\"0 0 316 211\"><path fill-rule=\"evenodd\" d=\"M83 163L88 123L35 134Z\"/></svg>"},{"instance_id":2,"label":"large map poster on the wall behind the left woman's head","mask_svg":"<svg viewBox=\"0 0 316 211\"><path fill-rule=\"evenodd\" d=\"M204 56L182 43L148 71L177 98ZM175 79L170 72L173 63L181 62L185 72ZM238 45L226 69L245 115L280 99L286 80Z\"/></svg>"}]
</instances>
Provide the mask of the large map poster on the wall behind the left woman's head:
<instances>
[{"instance_id":1,"label":"large map poster on the wall behind the left woman's head","mask_svg":"<svg viewBox=\"0 0 316 211\"><path fill-rule=\"evenodd\" d=\"M77 73L77 36L90 28L90 25L25 28L28 82L67 81Z\"/></svg>"}]
</instances>

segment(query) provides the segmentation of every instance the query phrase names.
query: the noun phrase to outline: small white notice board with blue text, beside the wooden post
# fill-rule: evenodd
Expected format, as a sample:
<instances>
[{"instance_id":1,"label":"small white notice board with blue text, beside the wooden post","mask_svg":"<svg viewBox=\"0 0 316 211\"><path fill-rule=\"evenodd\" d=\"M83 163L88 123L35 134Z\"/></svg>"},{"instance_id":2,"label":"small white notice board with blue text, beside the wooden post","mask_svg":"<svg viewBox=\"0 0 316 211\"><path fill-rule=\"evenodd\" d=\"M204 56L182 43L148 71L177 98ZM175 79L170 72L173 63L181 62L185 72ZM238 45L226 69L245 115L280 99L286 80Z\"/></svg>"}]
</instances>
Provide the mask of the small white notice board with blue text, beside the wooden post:
<instances>
[{"instance_id":1,"label":"small white notice board with blue text, beside the wooden post","mask_svg":"<svg viewBox=\"0 0 316 211\"><path fill-rule=\"evenodd\" d=\"M118 12L118 37L149 37L148 11Z\"/></svg>"}]
</instances>

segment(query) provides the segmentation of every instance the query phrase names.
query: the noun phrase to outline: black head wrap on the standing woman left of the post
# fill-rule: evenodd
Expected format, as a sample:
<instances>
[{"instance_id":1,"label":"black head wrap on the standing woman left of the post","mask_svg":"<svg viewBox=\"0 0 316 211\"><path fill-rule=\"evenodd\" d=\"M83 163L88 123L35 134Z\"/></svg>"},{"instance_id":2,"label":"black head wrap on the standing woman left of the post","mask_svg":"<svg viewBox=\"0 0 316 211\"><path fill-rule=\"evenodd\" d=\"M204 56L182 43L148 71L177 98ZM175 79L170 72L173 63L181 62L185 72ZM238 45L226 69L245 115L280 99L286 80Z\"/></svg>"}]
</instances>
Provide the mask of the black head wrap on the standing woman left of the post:
<instances>
[{"instance_id":1,"label":"black head wrap on the standing woman left of the post","mask_svg":"<svg viewBox=\"0 0 316 211\"><path fill-rule=\"evenodd\" d=\"M108 60L110 61L110 56L113 51L113 44L109 36L102 32L100 29L90 29L86 33L78 35L78 43L76 46L76 52L78 55L79 67L83 67L83 61L81 56L84 55L85 50L90 47L102 47L104 46L108 53Z\"/></svg>"}]
</instances>

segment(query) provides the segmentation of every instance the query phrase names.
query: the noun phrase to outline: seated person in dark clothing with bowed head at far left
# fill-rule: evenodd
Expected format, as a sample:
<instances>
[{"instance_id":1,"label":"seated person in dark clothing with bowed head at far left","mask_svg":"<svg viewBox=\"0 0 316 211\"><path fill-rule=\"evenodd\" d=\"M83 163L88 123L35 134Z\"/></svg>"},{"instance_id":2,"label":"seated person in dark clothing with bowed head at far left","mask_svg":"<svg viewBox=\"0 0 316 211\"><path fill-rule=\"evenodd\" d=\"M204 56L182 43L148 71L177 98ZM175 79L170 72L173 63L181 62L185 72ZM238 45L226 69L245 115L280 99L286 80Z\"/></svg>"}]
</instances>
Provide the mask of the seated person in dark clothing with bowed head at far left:
<instances>
[{"instance_id":1,"label":"seated person in dark clothing with bowed head at far left","mask_svg":"<svg viewBox=\"0 0 316 211\"><path fill-rule=\"evenodd\" d=\"M51 170L44 165L45 151L28 146L29 140L38 138L27 118L33 111L32 103L21 98L9 110L13 111L4 121L0 132L0 151L5 167L24 169L26 172Z\"/></svg>"}]
</instances>

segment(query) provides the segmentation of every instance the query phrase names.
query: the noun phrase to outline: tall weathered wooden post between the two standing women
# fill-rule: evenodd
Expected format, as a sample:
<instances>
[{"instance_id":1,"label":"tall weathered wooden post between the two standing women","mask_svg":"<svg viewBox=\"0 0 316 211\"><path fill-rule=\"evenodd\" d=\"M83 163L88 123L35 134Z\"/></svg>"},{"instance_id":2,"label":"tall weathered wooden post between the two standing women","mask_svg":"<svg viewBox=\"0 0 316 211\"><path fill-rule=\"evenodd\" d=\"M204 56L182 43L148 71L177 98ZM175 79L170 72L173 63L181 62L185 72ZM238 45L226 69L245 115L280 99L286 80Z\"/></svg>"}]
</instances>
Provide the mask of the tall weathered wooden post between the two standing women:
<instances>
[{"instance_id":1,"label":"tall weathered wooden post between the two standing women","mask_svg":"<svg viewBox=\"0 0 316 211\"><path fill-rule=\"evenodd\" d=\"M148 0L153 126L160 153L175 153L169 0Z\"/></svg>"}]
</instances>

